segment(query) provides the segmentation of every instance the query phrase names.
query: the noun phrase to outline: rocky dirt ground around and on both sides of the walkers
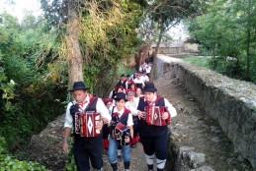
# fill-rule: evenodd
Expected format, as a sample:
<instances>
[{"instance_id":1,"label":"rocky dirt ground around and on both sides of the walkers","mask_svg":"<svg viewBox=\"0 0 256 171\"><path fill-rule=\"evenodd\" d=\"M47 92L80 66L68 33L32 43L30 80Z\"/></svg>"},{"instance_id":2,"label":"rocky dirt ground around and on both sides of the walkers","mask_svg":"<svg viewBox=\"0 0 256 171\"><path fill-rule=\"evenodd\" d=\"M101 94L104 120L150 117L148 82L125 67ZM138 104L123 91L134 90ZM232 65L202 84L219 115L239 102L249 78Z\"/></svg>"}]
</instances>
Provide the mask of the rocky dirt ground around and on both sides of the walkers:
<instances>
[{"instance_id":1,"label":"rocky dirt ground around and on both sides of the walkers","mask_svg":"<svg viewBox=\"0 0 256 171\"><path fill-rule=\"evenodd\" d=\"M220 127L200 108L197 101L186 91L182 83L166 73L156 80L160 95L165 96L175 106L178 116L171 121L171 145L166 170L215 170L250 171L251 166L231 142L223 135ZM49 123L40 135L35 135L24 148L27 159L43 163L48 170L63 170L67 156L62 151L64 116ZM178 153L182 157L178 157ZM106 154L103 154L105 170L111 171ZM186 160L188 166L182 167L177 160ZM176 165L175 165L176 164ZM119 162L123 168L123 162ZM143 149L140 143L131 148L131 171L146 170Z\"/></svg>"}]
</instances>

